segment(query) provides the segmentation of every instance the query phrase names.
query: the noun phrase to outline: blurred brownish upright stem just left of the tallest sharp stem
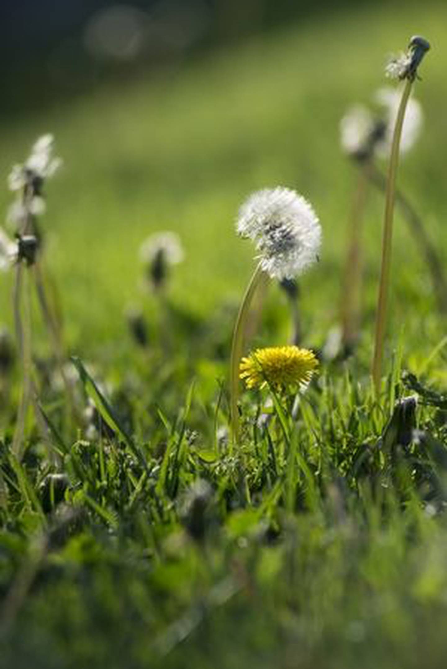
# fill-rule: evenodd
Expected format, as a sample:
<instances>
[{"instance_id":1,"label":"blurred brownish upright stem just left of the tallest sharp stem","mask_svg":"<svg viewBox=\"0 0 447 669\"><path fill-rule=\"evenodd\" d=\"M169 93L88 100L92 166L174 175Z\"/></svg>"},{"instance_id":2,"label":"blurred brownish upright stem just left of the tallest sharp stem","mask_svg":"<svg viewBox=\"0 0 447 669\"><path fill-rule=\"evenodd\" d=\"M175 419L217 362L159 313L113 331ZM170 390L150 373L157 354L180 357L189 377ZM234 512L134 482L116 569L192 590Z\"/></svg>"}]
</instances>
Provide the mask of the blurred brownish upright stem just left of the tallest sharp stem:
<instances>
[{"instance_id":1,"label":"blurred brownish upright stem just left of the tallest sharp stem","mask_svg":"<svg viewBox=\"0 0 447 669\"><path fill-rule=\"evenodd\" d=\"M362 221L367 193L366 167L361 166L353 201L349 243L345 262L343 302L341 304L342 340L345 351L355 345L359 332L362 284Z\"/></svg>"}]
</instances>

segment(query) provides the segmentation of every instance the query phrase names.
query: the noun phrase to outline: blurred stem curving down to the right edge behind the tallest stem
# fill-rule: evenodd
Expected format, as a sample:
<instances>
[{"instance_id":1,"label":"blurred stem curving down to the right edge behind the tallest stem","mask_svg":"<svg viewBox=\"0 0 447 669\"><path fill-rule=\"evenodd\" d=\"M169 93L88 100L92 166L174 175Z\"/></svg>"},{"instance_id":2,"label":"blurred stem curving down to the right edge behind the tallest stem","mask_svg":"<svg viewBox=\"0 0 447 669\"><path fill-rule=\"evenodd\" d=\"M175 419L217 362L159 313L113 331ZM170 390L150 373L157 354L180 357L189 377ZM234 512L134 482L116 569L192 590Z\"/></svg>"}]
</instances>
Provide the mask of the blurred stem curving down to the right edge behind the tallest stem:
<instances>
[{"instance_id":1,"label":"blurred stem curving down to the right edge behind the tallest stem","mask_svg":"<svg viewBox=\"0 0 447 669\"><path fill-rule=\"evenodd\" d=\"M379 171L379 169L373 163L369 163L368 165L367 176L369 181L377 186L377 188L381 189L381 191L386 190L386 179L381 171ZM442 263L436 252L436 248L434 244L432 244L432 240L430 240L430 237L426 232L424 223L422 223L422 219L410 201L408 201L404 193L399 191L399 189L396 189L395 191L395 201L404 214L416 244L418 244L418 247L422 249L422 252L424 253L428 269L432 276L432 284L436 294L436 299L438 300L438 308L440 312L446 314L447 281L444 275L444 270L442 268Z\"/></svg>"}]
</instances>

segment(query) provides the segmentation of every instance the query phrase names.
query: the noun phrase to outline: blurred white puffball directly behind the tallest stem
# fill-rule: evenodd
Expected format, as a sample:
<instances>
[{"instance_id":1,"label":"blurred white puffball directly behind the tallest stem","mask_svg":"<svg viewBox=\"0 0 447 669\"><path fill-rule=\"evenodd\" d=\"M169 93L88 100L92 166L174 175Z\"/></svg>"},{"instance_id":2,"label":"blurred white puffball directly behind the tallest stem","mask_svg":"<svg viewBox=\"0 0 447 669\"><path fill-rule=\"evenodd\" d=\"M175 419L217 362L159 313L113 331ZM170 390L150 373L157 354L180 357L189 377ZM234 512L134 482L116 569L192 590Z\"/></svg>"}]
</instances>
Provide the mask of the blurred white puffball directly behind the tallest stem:
<instances>
[{"instance_id":1,"label":"blurred white puffball directly behind the tallest stem","mask_svg":"<svg viewBox=\"0 0 447 669\"><path fill-rule=\"evenodd\" d=\"M397 119L397 112L401 100L401 93L394 88L381 88L375 94L375 100L383 107L386 116L387 131L383 142L377 146L377 151L380 155L385 156L389 154L391 149L391 142L393 140L394 126ZM402 134L400 139L400 153L410 151L414 144L416 144L422 124L424 122L424 114L422 107L418 100L410 98L408 100L404 125L402 126Z\"/></svg>"}]
</instances>

